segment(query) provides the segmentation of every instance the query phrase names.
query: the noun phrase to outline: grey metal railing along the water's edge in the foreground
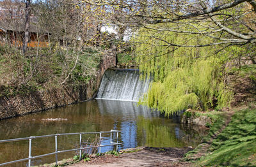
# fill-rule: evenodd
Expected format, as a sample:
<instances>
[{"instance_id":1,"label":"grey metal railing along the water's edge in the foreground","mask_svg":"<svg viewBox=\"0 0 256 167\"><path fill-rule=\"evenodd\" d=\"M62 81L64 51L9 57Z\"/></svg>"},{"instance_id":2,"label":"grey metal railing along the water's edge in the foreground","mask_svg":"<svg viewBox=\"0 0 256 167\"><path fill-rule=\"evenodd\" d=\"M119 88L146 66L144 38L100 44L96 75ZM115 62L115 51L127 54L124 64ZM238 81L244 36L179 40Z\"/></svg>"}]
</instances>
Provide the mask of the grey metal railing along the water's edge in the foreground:
<instances>
[{"instance_id":1,"label":"grey metal railing along the water's edge in the foreground","mask_svg":"<svg viewBox=\"0 0 256 167\"><path fill-rule=\"evenodd\" d=\"M14 139L8 139L8 140L0 140L0 143L7 143L7 142L16 142L16 141L21 141L21 140L29 140L29 155L27 158L24 159L18 159L15 161L9 161L6 163L2 163L0 164L0 166L4 166L6 164L12 164L12 163L18 163L18 162L22 162L22 161L28 161L28 166L31 166L31 159L36 159L38 157L44 157L44 156L51 156L55 154L55 158L56 158L56 165L58 164L58 156L57 154L60 154L62 152L71 152L71 151L77 151L79 150L79 158L81 159L82 156L82 150L85 149L93 149L93 148L99 148L99 153L101 153L101 147L106 147L106 146L111 146L111 145L116 145L116 151L118 150L118 145L121 145L122 143L118 143L118 133L120 133L121 131L116 131L116 130L111 130L111 131L100 131L100 132L89 132L89 133L61 133L61 134L48 134L48 135L43 135L43 136L30 136L27 138L14 138ZM102 138L102 134L104 133L110 133L110 144L108 145L101 145L101 138ZM113 133L116 133L116 142L112 142L112 137L113 137ZM69 150L58 150L58 136L67 136L67 135L76 135L79 134L79 145L80 148L77 149L69 149ZM92 146L92 147L83 147L82 145L82 134L99 134L99 145L96 146ZM55 152L51 152L48 154L42 154L39 156L31 156L31 147L32 147L32 139L35 138L47 138L47 137L55 137Z\"/></svg>"}]
</instances>

